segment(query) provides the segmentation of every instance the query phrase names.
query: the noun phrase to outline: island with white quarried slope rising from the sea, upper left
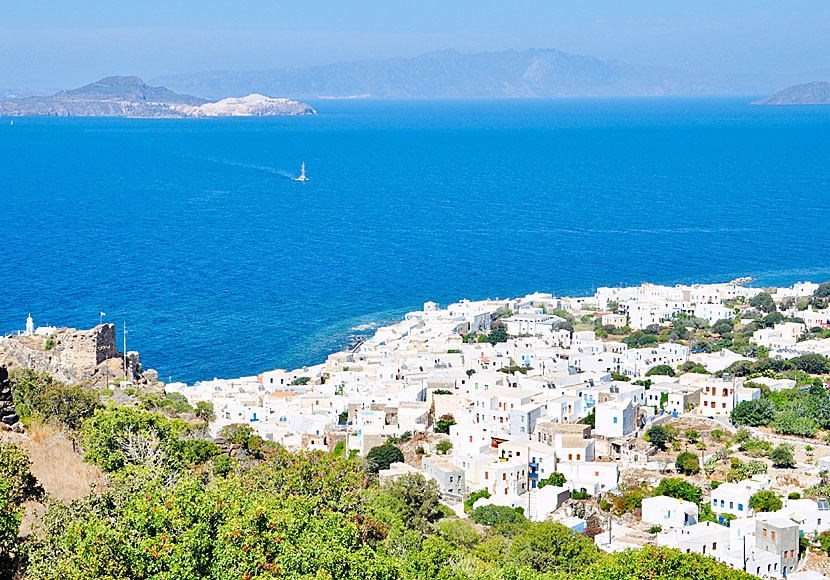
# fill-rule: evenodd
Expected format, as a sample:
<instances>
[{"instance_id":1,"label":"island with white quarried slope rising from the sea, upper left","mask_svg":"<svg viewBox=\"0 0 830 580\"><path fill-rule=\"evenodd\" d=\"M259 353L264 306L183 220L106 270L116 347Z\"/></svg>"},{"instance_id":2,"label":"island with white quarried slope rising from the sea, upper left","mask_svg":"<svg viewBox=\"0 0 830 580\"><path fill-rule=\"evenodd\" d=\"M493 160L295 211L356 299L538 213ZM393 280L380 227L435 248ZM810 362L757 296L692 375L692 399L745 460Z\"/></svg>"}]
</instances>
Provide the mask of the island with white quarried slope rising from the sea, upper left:
<instances>
[{"instance_id":1,"label":"island with white quarried slope rising from the sea, upper left","mask_svg":"<svg viewBox=\"0 0 830 580\"><path fill-rule=\"evenodd\" d=\"M135 76L107 77L51 96L0 99L0 116L199 118L314 115L305 103L260 94L211 102L152 87Z\"/></svg>"}]
</instances>

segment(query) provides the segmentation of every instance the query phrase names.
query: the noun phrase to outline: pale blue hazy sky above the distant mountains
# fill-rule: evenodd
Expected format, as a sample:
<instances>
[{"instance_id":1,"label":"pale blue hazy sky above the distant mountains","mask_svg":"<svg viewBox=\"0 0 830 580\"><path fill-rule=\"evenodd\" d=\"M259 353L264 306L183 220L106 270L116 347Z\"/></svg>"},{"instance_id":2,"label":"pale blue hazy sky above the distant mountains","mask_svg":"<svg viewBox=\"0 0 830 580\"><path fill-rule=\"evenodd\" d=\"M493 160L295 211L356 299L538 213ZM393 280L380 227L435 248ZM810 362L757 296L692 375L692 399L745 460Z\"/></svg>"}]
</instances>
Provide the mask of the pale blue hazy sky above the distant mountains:
<instances>
[{"instance_id":1,"label":"pale blue hazy sky above the distant mountains","mask_svg":"<svg viewBox=\"0 0 830 580\"><path fill-rule=\"evenodd\" d=\"M827 0L29 0L0 7L0 88L556 48L710 75L830 79Z\"/></svg>"}]
</instances>

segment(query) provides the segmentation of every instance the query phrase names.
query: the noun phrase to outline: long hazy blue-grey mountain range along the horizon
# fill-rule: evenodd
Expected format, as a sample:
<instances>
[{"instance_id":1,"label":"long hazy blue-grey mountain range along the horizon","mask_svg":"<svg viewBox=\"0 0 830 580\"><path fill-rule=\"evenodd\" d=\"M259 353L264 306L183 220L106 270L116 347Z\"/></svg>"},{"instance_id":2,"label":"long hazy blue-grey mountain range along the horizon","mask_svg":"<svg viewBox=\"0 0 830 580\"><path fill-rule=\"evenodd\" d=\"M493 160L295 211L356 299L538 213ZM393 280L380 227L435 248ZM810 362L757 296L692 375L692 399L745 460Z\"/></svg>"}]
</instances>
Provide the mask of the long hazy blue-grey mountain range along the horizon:
<instances>
[{"instance_id":1,"label":"long hazy blue-grey mountain range along the horizon","mask_svg":"<svg viewBox=\"0 0 830 580\"><path fill-rule=\"evenodd\" d=\"M208 98L248 93L324 98L609 97L718 92L679 71L602 61L558 50L340 62L249 72L165 76L154 82ZM722 91L721 91L722 92Z\"/></svg>"}]
</instances>

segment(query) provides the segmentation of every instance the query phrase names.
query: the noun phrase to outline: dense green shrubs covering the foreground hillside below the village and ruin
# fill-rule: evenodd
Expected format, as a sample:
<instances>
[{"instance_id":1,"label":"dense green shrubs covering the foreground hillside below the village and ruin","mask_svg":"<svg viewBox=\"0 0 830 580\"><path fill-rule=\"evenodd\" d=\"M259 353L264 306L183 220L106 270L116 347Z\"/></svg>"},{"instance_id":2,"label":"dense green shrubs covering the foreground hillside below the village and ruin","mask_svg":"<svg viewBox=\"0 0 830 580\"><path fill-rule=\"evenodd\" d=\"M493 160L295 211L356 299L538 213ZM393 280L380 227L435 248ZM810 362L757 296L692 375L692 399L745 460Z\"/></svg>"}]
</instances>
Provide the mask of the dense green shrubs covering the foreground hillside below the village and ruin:
<instances>
[{"instance_id":1,"label":"dense green shrubs covering the foreground hillside below the village and ruin","mask_svg":"<svg viewBox=\"0 0 830 580\"><path fill-rule=\"evenodd\" d=\"M230 457L169 411L104 405L37 375L14 384L30 424L64 430L108 477L79 499L54 497L22 447L0 444L2 578L749 578L667 549L608 556L520 513L475 524L421 475L381 486L361 458L292 453L244 426L224 433L240 451ZM62 404L43 405L55 391ZM66 414L76 404L88 415L79 424ZM18 537L32 502L44 506L35 532Z\"/></svg>"}]
</instances>

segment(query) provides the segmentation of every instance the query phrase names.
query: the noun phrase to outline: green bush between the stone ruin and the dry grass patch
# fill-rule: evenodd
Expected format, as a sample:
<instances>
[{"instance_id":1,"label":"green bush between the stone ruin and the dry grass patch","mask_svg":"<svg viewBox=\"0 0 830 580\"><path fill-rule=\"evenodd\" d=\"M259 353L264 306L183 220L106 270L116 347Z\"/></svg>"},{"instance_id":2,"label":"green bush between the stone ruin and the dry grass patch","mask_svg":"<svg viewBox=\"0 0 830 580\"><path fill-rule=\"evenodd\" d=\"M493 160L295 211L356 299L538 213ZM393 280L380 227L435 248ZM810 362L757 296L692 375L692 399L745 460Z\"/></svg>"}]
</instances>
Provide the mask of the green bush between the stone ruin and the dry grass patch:
<instances>
[{"instance_id":1,"label":"green bush between the stone ruin and the dry grass patch","mask_svg":"<svg viewBox=\"0 0 830 580\"><path fill-rule=\"evenodd\" d=\"M9 379L14 405L21 419L40 417L77 430L85 419L102 407L97 393L65 385L47 373L23 369L10 373Z\"/></svg>"}]
</instances>

